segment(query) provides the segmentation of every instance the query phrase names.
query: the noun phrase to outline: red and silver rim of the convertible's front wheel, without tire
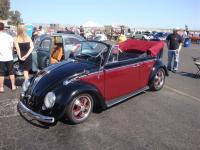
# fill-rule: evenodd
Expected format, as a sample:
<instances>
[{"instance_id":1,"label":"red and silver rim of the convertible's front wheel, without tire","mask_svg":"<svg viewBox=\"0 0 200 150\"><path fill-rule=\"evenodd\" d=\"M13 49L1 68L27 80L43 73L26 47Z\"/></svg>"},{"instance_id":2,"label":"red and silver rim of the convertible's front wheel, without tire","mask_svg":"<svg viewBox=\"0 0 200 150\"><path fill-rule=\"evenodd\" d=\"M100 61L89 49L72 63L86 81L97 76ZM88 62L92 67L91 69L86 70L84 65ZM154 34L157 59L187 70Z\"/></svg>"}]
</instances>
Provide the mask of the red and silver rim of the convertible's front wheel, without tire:
<instances>
[{"instance_id":1,"label":"red and silver rim of the convertible's front wheel, without tire","mask_svg":"<svg viewBox=\"0 0 200 150\"><path fill-rule=\"evenodd\" d=\"M87 118L91 110L91 99L89 96L78 97L72 107L73 116L77 120Z\"/></svg>"}]
</instances>

